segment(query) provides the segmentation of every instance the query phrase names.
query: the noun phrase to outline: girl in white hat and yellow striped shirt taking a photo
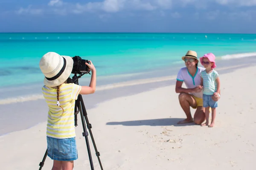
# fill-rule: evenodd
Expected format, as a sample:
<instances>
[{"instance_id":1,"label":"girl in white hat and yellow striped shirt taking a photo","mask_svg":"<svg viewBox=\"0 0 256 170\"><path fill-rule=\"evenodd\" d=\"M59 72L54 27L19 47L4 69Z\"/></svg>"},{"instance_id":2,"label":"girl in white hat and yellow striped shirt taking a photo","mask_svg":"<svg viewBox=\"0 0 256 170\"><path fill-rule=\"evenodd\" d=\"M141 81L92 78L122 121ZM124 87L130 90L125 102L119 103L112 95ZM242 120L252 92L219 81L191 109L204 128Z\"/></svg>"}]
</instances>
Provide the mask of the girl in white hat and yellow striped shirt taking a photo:
<instances>
[{"instance_id":1,"label":"girl in white hat and yellow striped shirt taking a photo","mask_svg":"<svg viewBox=\"0 0 256 170\"><path fill-rule=\"evenodd\" d=\"M96 68L85 63L92 71L89 86L67 83L73 69L73 59L48 52L39 66L44 74L42 87L49 107L47 119L47 156L53 159L52 170L73 170L78 159L74 126L75 101L79 94L93 94L96 90Z\"/></svg>"}]
</instances>

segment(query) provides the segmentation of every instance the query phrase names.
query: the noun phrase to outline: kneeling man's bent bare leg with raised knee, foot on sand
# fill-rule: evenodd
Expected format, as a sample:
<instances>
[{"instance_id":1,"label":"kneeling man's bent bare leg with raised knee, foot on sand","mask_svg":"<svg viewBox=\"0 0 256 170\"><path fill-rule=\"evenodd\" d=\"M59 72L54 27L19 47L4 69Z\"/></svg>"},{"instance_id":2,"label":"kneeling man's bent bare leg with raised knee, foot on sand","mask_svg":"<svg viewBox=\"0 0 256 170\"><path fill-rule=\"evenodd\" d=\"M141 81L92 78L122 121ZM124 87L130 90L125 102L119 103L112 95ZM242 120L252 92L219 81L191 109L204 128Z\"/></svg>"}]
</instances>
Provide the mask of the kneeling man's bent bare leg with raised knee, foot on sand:
<instances>
[{"instance_id":1,"label":"kneeling man's bent bare leg with raised knee, foot on sand","mask_svg":"<svg viewBox=\"0 0 256 170\"><path fill-rule=\"evenodd\" d=\"M180 101L180 106L183 109L183 111L186 113L187 118L184 120L181 120L180 122L178 122L178 124L193 122L193 118L190 113L190 106L192 108L196 107L195 98L191 94L180 93L179 101Z\"/></svg>"}]
</instances>

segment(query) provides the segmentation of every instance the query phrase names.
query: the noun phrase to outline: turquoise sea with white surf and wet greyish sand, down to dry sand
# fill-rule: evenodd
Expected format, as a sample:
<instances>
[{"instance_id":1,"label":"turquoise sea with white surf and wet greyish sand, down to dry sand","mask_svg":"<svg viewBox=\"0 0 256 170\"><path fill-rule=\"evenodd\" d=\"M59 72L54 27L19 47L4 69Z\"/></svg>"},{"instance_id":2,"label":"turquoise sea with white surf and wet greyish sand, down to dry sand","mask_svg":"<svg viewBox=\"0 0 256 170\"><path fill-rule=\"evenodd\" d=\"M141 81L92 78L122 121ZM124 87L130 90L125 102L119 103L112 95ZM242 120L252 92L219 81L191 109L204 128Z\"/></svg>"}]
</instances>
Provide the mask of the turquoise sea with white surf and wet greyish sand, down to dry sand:
<instances>
[{"instance_id":1,"label":"turquoise sea with white surf and wet greyish sand, down to dry sand","mask_svg":"<svg viewBox=\"0 0 256 170\"><path fill-rule=\"evenodd\" d=\"M237 65L255 65L256 57L250 56L256 56L256 34L0 33L0 136L47 120L47 105L37 100L43 99L39 61L49 51L93 61L97 90L84 96L90 109L118 96L175 84L188 50L198 57L214 53L224 74ZM125 81L130 82L120 83ZM79 79L80 85L89 83L90 75Z\"/></svg>"}]
</instances>

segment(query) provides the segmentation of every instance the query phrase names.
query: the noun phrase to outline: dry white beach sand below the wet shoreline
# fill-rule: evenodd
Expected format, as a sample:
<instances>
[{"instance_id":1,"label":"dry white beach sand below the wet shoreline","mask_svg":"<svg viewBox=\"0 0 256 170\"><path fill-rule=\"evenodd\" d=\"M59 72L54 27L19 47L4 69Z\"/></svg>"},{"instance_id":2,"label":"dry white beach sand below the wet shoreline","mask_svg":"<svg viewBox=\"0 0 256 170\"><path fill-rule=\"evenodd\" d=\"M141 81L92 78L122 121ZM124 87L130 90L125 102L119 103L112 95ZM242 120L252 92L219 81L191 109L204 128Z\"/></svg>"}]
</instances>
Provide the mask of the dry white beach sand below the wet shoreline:
<instances>
[{"instance_id":1,"label":"dry white beach sand below the wet shoreline","mask_svg":"<svg viewBox=\"0 0 256 170\"><path fill-rule=\"evenodd\" d=\"M222 96L213 128L176 125L185 114L173 85L87 110L103 169L252 170L256 158L255 69L221 75ZM74 170L90 170L80 115L78 124L79 159ZM94 168L100 170L90 136L89 141ZM39 169L45 150L46 123L3 136L1 170ZM42 170L51 167L47 157Z\"/></svg>"}]
</instances>

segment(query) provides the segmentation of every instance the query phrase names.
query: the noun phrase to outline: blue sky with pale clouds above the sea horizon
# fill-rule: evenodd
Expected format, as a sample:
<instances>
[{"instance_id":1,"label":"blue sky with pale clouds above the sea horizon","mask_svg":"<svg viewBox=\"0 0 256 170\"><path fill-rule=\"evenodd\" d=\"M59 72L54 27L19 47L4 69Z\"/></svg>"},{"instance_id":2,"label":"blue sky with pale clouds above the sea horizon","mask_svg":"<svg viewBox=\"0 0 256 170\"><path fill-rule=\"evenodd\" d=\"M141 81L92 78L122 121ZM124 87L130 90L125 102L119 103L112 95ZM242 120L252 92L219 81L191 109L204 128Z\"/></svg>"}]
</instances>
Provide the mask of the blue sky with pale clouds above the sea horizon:
<instances>
[{"instance_id":1,"label":"blue sky with pale clouds above the sea horizon","mask_svg":"<svg viewBox=\"0 0 256 170\"><path fill-rule=\"evenodd\" d=\"M0 32L256 33L256 0L0 0Z\"/></svg>"}]
</instances>

